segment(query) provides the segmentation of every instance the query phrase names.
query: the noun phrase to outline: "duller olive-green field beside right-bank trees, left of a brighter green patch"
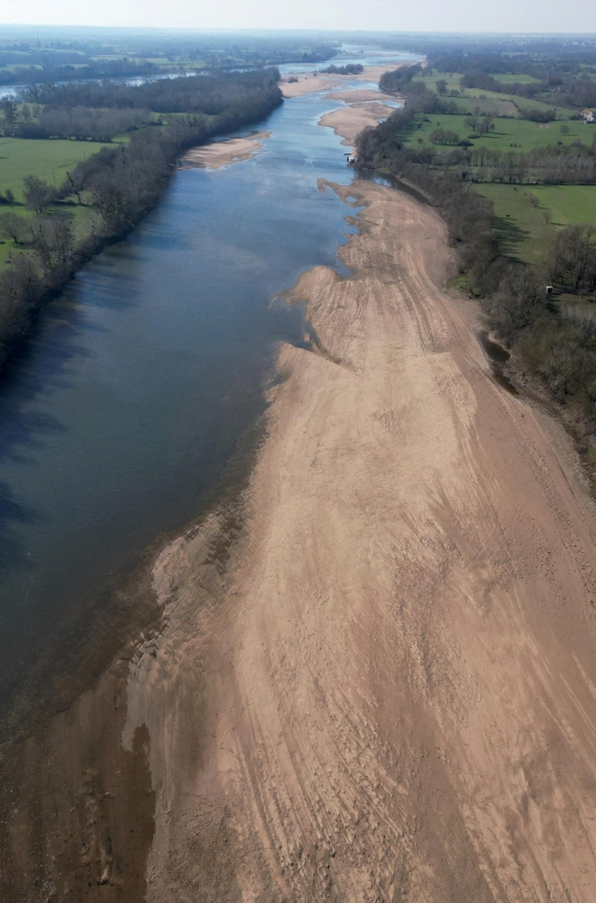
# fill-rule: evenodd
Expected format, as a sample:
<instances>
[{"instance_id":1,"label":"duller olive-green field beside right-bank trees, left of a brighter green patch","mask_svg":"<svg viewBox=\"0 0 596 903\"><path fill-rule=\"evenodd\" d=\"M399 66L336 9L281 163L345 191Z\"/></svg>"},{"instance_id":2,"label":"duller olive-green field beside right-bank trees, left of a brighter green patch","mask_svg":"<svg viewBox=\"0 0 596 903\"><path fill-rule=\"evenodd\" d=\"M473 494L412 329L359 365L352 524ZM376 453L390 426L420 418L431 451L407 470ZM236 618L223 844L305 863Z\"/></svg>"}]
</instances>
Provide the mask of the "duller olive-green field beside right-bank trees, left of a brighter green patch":
<instances>
[{"instance_id":1,"label":"duller olive-green field beside right-bank trees, left of a brighter green patch","mask_svg":"<svg viewBox=\"0 0 596 903\"><path fill-rule=\"evenodd\" d=\"M544 211L533 206L530 190L523 185L479 184L475 190L492 201L494 230L503 254L526 264L543 263L556 237L556 229L546 223Z\"/></svg>"}]
</instances>

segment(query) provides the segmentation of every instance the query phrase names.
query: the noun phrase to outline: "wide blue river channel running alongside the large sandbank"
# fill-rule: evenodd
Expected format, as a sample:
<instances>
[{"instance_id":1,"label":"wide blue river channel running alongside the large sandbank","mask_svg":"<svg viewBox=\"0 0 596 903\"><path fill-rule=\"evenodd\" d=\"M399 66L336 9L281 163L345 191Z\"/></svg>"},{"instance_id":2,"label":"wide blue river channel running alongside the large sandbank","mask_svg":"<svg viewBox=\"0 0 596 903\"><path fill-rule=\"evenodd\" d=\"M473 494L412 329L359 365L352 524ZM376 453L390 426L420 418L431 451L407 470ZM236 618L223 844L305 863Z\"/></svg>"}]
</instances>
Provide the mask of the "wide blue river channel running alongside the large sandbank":
<instances>
[{"instance_id":1,"label":"wide blue river channel running alongside the large sandbank","mask_svg":"<svg viewBox=\"0 0 596 903\"><path fill-rule=\"evenodd\" d=\"M76 659L121 575L199 514L264 411L279 341L304 342L300 306L272 301L313 266L341 269L353 211L317 188L352 179L317 125L339 105L286 100L257 158L178 171L0 382L0 716L47 690L42 658L60 671L51 650L72 630Z\"/></svg>"}]
</instances>

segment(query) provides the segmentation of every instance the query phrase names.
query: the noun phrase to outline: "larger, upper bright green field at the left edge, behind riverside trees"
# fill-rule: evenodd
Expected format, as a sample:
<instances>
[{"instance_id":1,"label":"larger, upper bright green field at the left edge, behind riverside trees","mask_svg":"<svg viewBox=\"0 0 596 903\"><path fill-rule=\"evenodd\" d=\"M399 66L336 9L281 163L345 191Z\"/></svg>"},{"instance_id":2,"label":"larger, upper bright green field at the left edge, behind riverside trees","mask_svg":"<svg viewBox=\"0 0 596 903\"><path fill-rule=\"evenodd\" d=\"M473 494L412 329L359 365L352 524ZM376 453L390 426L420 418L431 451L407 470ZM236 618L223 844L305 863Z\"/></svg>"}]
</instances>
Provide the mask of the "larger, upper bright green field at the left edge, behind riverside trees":
<instances>
[{"instance_id":1,"label":"larger, upper bright green field at the left edge, behind riverside trees","mask_svg":"<svg viewBox=\"0 0 596 903\"><path fill-rule=\"evenodd\" d=\"M96 141L47 141L0 138L0 191L11 188L23 200L23 179L38 176L60 185L72 167L106 145Z\"/></svg>"}]
</instances>

